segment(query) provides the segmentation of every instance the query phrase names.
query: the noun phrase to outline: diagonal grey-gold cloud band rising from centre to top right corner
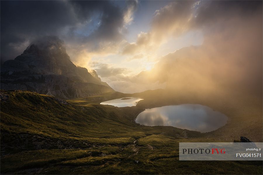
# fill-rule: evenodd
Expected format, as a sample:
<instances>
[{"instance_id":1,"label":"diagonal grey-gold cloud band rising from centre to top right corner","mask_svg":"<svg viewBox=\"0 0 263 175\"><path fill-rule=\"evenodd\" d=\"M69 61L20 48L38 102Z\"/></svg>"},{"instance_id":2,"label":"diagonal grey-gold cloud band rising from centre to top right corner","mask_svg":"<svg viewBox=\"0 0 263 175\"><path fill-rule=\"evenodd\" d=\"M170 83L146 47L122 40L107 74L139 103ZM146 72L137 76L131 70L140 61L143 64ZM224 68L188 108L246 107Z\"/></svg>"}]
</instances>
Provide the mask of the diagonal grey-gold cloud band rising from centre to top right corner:
<instances>
[{"instance_id":1,"label":"diagonal grey-gold cloud band rising from centre to top right corner","mask_svg":"<svg viewBox=\"0 0 263 175\"><path fill-rule=\"evenodd\" d=\"M203 33L223 30L233 18L248 18L256 13L257 1L172 1L155 11L151 29L141 32L134 43L127 43L123 54L135 54L142 50L152 52L171 37L179 37L189 31Z\"/></svg>"}]
</instances>

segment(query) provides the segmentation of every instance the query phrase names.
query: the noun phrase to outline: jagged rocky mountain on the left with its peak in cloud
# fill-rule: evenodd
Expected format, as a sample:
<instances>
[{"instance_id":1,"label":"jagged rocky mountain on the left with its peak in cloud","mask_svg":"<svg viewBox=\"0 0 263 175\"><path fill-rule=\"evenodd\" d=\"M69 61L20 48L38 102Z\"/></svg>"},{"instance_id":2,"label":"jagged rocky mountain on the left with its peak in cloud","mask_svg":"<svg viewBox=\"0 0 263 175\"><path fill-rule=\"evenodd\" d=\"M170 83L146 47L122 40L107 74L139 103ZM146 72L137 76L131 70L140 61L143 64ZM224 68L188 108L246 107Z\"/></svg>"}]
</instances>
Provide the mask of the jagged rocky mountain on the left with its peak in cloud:
<instances>
[{"instance_id":1,"label":"jagged rocky mountain on the left with its peak in cloud","mask_svg":"<svg viewBox=\"0 0 263 175\"><path fill-rule=\"evenodd\" d=\"M77 67L63 41L49 36L35 41L23 54L1 66L1 89L28 90L59 98L82 98L114 91L95 71Z\"/></svg>"}]
</instances>

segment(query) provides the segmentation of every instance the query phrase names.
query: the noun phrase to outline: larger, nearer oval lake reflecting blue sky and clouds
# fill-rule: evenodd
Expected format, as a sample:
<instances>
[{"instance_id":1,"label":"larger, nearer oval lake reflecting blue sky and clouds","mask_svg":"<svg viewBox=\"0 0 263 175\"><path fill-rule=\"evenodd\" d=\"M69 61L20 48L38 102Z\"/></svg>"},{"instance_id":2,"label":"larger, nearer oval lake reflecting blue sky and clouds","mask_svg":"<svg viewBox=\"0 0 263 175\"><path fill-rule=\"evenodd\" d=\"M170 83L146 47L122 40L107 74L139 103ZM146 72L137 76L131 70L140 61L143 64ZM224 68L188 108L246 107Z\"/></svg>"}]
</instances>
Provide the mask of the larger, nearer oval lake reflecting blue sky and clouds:
<instances>
[{"instance_id":1,"label":"larger, nearer oval lake reflecting blue sky and clouds","mask_svg":"<svg viewBox=\"0 0 263 175\"><path fill-rule=\"evenodd\" d=\"M146 109L136 123L146 126L174 126L192 131L210 132L224 126L227 116L198 104L170 105Z\"/></svg>"}]
</instances>

